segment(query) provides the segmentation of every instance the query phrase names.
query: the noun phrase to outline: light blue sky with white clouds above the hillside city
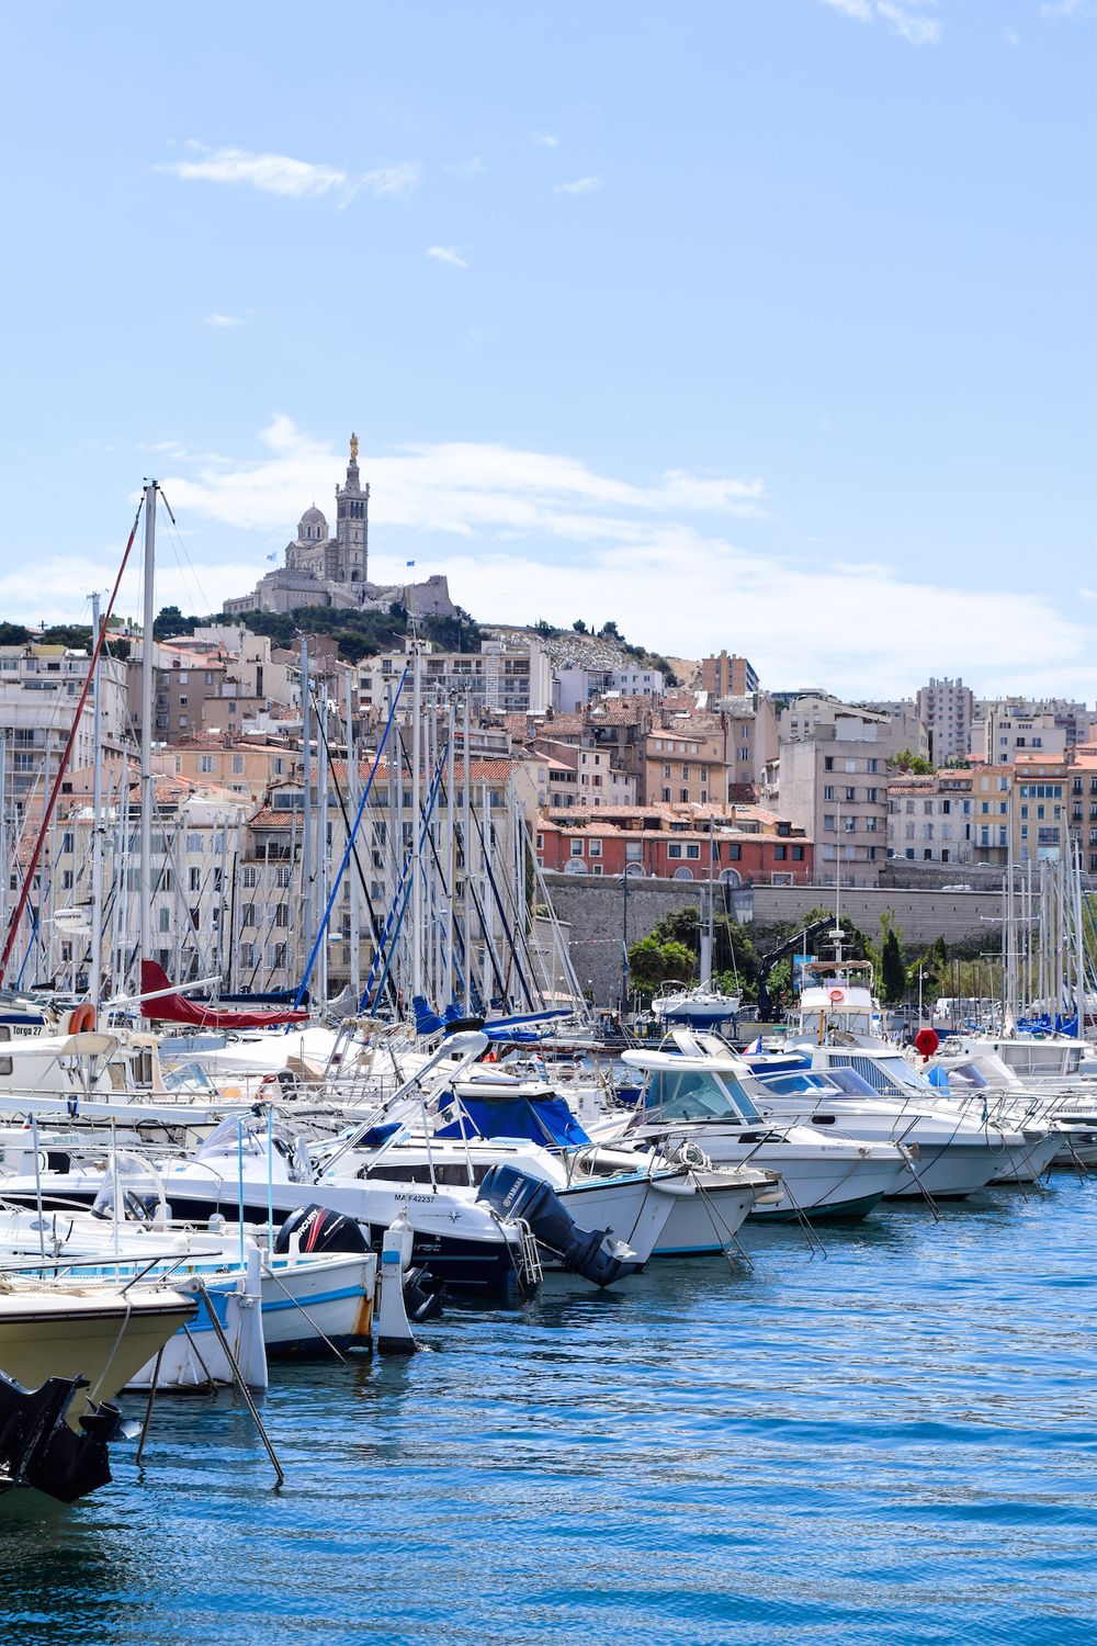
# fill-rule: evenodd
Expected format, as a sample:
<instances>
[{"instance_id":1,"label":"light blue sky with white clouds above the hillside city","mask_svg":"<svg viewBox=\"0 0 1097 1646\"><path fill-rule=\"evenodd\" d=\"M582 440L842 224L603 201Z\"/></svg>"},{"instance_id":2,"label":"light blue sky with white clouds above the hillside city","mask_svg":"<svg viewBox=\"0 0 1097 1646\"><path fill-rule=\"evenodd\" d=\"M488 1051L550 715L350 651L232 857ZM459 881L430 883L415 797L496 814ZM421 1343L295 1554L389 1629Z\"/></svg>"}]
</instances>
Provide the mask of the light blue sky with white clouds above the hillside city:
<instances>
[{"instance_id":1,"label":"light blue sky with white clouds above the hillside city","mask_svg":"<svg viewBox=\"0 0 1097 1646\"><path fill-rule=\"evenodd\" d=\"M1092 13L10 8L0 616L148 472L163 599L243 593L357 430L477 617L1092 700Z\"/></svg>"}]
</instances>

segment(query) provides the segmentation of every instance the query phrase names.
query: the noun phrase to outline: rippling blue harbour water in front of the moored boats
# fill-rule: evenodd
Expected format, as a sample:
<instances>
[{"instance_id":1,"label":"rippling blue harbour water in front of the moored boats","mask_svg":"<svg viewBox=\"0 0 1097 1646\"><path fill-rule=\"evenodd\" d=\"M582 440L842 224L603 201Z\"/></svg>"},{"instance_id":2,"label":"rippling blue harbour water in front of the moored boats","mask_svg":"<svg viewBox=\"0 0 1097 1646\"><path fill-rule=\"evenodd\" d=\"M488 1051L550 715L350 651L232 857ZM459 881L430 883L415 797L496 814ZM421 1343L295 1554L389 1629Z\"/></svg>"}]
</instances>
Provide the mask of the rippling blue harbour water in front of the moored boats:
<instances>
[{"instance_id":1,"label":"rippling blue harbour water in front of the moored boats","mask_svg":"<svg viewBox=\"0 0 1097 1646\"><path fill-rule=\"evenodd\" d=\"M164 1399L143 1476L5 1500L0 1634L1097 1639L1095 1220L1058 1174L451 1307L411 1361L275 1368L281 1493L227 1396Z\"/></svg>"}]
</instances>

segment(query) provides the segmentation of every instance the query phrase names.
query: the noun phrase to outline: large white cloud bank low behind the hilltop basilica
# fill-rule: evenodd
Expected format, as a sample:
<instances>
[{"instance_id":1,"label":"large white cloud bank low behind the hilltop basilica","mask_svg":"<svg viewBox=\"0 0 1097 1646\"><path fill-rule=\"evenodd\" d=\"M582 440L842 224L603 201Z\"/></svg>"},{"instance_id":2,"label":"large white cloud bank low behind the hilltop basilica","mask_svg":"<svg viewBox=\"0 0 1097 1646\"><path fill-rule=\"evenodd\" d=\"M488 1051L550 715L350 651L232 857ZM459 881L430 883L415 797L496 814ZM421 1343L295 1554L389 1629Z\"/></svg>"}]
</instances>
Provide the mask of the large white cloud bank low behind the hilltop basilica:
<instances>
[{"instance_id":1,"label":"large white cloud bank low behind the hilltop basilica","mask_svg":"<svg viewBox=\"0 0 1097 1646\"><path fill-rule=\"evenodd\" d=\"M268 545L286 540L311 497L331 494L345 463L288 416L275 418L262 441L258 461L202 458L183 464L187 477L164 481L181 522L199 517L262 533L247 571L217 565L209 573L217 597L245 591L270 570ZM758 479L669 471L636 484L558 453L467 441L363 454L363 471L372 576L401 581L413 553L419 574L444 571L454 597L484 621L613 617L630 639L699 657L727 644L734 619L737 644L776 686L812 680L835 691L900 695L933 667L988 690L1020 681L1031 691L1097 691L1097 630L1048 594L942 591L883 560L855 563L804 546L778 561L770 548L735 542L732 520L765 520ZM199 571L206 583L206 568ZM41 571L18 576L39 604Z\"/></svg>"}]
</instances>

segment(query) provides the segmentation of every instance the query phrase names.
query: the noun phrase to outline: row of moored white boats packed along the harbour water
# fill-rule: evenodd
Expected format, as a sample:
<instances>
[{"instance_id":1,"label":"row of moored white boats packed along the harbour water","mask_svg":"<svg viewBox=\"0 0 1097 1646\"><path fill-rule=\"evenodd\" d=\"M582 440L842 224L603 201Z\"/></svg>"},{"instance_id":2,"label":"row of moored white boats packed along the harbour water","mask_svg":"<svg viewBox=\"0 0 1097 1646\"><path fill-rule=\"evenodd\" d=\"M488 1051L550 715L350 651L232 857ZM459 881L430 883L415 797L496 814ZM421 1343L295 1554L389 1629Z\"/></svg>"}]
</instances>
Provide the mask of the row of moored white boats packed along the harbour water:
<instances>
[{"instance_id":1,"label":"row of moored white boats packed along the harbour water","mask_svg":"<svg viewBox=\"0 0 1097 1646\"><path fill-rule=\"evenodd\" d=\"M178 1027L178 1025L176 1025ZM600 1049L554 1019L150 1034L33 999L0 1022L0 1490L109 1478L123 1389L263 1388L268 1358L410 1350L446 1289L627 1284L1097 1164L1081 1040L878 1035L816 963L796 1030L735 1050L668 1021ZM928 1053L928 1055L926 1055Z\"/></svg>"}]
</instances>

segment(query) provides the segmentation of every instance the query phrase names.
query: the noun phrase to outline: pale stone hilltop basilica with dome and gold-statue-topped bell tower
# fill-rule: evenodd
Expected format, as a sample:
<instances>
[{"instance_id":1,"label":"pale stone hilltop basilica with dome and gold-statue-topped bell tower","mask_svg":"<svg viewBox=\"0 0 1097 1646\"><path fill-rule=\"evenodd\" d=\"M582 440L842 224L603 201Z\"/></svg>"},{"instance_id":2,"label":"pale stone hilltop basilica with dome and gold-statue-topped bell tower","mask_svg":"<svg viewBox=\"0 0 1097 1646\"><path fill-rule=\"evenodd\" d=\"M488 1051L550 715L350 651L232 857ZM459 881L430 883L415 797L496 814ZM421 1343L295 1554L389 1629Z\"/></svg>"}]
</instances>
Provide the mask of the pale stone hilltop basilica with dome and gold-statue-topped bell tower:
<instances>
[{"instance_id":1,"label":"pale stone hilltop basilica with dome and gold-statue-topped bell tower","mask_svg":"<svg viewBox=\"0 0 1097 1646\"><path fill-rule=\"evenodd\" d=\"M288 612L294 606L342 606L383 611L398 601L416 616L449 617L456 607L446 578L424 583L375 584L368 581L370 487L359 476L359 436L350 436L350 463L344 486L336 487L336 535L312 505L286 543L286 565L260 578L252 594L225 601L225 611Z\"/></svg>"}]
</instances>

